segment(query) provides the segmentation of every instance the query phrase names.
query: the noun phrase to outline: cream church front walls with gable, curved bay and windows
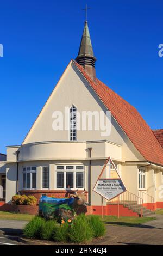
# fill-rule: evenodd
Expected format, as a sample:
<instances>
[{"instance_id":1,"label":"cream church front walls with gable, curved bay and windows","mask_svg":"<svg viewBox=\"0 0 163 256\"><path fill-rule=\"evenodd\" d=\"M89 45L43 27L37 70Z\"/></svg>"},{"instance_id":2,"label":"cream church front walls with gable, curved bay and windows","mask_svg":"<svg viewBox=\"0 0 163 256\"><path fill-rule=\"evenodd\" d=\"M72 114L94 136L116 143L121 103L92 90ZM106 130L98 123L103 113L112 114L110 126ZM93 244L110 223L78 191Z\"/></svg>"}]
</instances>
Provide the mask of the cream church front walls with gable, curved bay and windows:
<instances>
[{"instance_id":1,"label":"cream church front walls with gable, curved bay and windows","mask_svg":"<svg viewBox=\"0 0 163 256\"><path fill-rule=\"evenodd\" d=\"M143 198L146 193L144 203L150 203L148 199L153 198L153 203L160 202L163 207L159 194L163 167L146 161L112 115L109 136L101 136L101 130L77 130L76 141L71 141L70 131L54 131L53 113L64 113L65 107L72 106L79 113L103 111L106 114L108 111L73 61L68 64L23 143L7 147L7 161L0 162L0 175L4 170L6 174L6 203L10 203L17 192L33 194L37 199L41 194L64 197L67 182L71 182L71 190L88 192L87 199L98 214L101 197L92 189L110 156L130 194ZM92 148L91 157L89 148ZM104 176L107 172L108 167ZM111 176L116 178L113 169ZM104 200L105 206L106 203Z\"/></svg>"}]
</instances>

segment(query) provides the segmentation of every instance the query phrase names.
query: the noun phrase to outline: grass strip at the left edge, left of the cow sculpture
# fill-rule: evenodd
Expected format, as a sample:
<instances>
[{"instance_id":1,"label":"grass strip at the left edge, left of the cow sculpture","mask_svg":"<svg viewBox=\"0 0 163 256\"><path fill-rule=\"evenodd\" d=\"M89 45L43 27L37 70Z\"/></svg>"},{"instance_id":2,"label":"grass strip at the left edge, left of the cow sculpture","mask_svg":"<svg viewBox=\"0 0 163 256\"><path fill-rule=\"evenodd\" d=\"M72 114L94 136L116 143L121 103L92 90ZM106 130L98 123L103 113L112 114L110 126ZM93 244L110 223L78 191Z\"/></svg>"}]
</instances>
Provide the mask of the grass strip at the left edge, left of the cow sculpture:
<instances>
[{"instance_id":1,"label":"grass strip at the left edge, left of the cow sculpture","mask_svg":"<svg viewBox=\"0 0 163 256\"><path fill-rule=\"evenodd\" d=\"M19 221L30 221L34 215L30 214L14 214L7 211L0 211L0 220L19 220Z\"/></svg>"}]
</instances>

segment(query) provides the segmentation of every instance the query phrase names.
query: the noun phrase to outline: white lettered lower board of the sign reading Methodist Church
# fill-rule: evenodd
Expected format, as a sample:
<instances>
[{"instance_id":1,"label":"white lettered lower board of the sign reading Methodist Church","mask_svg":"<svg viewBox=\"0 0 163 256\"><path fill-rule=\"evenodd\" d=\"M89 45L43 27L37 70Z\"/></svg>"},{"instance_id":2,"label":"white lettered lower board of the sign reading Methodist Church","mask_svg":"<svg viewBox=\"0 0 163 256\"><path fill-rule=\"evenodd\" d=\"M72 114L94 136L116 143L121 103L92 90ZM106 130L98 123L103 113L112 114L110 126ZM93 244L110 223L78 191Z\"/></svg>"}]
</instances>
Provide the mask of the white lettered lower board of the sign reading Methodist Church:
<instances>
[{"instance_id":1,"label":"white lettered lower board of the sign reading Methodist Church","mask_svg":"<svg viewBox=\"0 0 163 256\"><path fill-rule=\"evenodd\" d=\"M126 191L121 179L98 179L93 189L107 200L118 196Z\"/></svg>"}]
</instances>

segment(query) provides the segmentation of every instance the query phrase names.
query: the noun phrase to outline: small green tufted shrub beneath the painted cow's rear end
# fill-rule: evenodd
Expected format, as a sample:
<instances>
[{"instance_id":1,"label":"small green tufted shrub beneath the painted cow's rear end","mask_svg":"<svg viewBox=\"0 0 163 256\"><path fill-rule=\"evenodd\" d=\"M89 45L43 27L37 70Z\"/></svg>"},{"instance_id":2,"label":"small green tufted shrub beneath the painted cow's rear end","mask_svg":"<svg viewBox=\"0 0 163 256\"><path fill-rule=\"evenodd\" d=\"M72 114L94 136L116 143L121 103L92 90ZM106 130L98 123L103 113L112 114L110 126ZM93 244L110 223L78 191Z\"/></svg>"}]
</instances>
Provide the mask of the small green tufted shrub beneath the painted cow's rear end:
<instances>
[{"instance_id":1,"label":"small green tufted shrub beneath the painted cow's rear end","mask_svg":"<svg viewBox=\"0 0 163 256\"><path fill-rule=\"evenodd\" d=\"M45 221L40 229L40 238L45 240L52 240L57 228L58 225L54 220Z\"/></svg>"}]
</instances>

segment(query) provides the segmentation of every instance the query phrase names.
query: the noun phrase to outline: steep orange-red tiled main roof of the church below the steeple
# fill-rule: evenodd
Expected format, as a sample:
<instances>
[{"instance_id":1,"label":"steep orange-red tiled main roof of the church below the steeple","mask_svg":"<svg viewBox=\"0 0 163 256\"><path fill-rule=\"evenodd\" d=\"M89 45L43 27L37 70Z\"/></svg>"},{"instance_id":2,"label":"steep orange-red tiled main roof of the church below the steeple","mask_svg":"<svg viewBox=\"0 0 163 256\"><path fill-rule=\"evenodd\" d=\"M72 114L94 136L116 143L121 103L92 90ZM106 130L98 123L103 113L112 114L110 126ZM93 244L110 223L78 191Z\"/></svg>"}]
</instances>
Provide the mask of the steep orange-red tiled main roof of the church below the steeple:
<instances>
[{"instance_id":1,"label":"steep orange-red tiled main roof of the church below the steeple","mask_svg":"<svg viewBox=\"0 0 163 256\"><path fill-rule=\"evenodd\" d=\"M163 149L139 112L104 83L98 79L93 81L77 62L74 62L74 64L82 72L141 155L147 161L163 166Z\"/></svg>"}]
</instances>

